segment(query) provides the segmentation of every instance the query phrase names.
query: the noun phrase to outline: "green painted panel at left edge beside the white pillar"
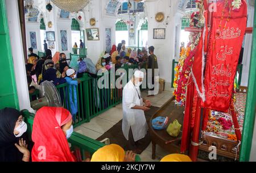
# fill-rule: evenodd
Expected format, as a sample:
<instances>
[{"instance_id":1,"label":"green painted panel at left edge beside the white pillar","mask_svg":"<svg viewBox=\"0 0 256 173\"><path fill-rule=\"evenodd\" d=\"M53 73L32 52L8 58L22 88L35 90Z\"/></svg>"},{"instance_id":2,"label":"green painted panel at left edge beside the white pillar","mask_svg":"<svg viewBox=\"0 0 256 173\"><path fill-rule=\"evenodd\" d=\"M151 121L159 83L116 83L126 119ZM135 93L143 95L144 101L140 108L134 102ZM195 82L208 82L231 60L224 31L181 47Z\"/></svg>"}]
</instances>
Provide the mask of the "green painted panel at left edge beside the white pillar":
<instances>
[{"instance_id":1,"label":"green painted panel at left edge beside the white pillar","mask_svg":"<svg viewBox=\"0 0 256 173\"><path fill-rule=\"evenodd\" d=\"M19 109L5 0L0 0L0 48L0 109L5 107Z\"/></svg>"}]
</instances>

